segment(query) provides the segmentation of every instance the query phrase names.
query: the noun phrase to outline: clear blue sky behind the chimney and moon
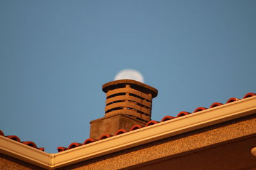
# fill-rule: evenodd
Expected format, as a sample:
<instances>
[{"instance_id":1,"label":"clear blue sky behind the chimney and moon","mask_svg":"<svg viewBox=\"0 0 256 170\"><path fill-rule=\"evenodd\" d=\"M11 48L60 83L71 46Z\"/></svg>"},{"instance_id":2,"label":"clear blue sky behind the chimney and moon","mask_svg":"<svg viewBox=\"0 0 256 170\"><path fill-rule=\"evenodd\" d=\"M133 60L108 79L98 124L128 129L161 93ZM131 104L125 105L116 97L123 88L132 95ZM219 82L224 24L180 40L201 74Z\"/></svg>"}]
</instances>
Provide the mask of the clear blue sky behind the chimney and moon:
<instances>
[{"instance_id":1,"label":"clear blue sky behind the chimney and moon","mask_svg":"<svg viewBox=\"0 0 256 170\"><path fill-rule=\"evenodd\" d=\"M256 1L0 0L0 129L45 152L83 143L102 85L136 69L152 120L256 92Z\"/></svg>"}]
</instances>

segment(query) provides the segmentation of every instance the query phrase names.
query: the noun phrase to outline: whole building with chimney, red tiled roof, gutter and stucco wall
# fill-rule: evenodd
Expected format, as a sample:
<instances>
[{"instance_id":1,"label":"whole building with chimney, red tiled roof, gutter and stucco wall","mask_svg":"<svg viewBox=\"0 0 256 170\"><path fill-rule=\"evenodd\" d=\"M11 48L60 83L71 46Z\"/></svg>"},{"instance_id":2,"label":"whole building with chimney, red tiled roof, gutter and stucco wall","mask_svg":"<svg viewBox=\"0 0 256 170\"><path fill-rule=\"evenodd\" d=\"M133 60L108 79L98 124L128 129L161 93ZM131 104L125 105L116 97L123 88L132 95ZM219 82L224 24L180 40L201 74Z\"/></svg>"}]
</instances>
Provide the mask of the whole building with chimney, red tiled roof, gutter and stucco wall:
<instances>
[{"instance_id":1,"label":"whole building with chimney, red tiled roof, gutter and stucco wall","mask_svg":"<svg viewBox=\"0 0 256 170\"><path fill-rule=\"evenodd\" d=\"M103 85L105 117L84 143L46 153L0 136L0 169L256 169L256 94L151 120L153 87L134 80Z\"/></svg>"}]
</instances>

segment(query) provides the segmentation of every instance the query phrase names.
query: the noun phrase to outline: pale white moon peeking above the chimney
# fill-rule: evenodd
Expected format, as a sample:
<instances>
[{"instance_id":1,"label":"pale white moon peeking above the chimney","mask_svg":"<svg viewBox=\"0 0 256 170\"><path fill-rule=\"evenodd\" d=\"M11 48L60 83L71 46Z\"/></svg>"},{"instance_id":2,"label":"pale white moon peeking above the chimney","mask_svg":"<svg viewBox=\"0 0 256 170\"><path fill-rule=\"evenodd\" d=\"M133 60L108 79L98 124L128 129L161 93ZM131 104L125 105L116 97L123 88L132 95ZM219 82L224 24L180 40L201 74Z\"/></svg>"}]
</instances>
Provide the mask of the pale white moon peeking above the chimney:
<instances>
[{"instance_id":1,"label":"pale white moon peeking above the chimney","mask_svg":"<svg viewBox=\"0 0 256 170\"><path fill-rule=\"evenodd\" d=\"M131 79L144 83L144 78L142 74L135 69L123 69L122 71L118 72L114 78L114 80L122 79Z\"/></svg>"}]
</instances>

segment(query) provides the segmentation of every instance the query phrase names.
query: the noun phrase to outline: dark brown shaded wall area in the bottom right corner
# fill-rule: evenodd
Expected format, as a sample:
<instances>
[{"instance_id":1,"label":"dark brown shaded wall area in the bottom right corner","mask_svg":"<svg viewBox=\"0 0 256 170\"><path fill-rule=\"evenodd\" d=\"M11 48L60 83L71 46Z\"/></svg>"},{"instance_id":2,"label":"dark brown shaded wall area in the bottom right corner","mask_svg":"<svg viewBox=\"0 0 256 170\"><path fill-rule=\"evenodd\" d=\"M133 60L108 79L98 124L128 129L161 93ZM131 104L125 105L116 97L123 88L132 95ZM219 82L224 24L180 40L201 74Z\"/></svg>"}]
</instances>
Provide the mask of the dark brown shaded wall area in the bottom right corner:
<instances>
[{"instance_id":1,"label":"dark brown shaded wall area in the bottom right corner","mask_svg":"<svg viewBox=\"0 0 256 170\"><path fill-rule=\"evenodd\" d=\"M145 165L129 167L141 170L150 169L256 169L256 158L250 153L255 146L256 136L241 138L238 141L230 141L218 144L212 148L202 148L195 152L178 154L164 159L147 162Z\"/></svg>"}]
</instances>

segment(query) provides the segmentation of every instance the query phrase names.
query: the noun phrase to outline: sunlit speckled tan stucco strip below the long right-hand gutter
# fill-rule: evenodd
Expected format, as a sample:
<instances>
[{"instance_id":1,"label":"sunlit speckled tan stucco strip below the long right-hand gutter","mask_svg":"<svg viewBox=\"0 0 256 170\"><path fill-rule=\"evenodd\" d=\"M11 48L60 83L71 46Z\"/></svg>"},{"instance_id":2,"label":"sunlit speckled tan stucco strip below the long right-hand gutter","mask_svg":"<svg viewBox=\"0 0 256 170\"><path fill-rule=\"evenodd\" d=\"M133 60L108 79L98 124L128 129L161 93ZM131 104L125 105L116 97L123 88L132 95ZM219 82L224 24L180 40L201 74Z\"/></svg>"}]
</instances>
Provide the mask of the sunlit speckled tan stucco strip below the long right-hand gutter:
<instances>
[{"instance_id":1,"label":"sunlit speckled tan stucco strip below the long right-hand gutter","mask_svg":"<svg viewBox=\"0 0 256 170\"><path fill-rule=\"evenodd\" d=\"M195 152L201 152L216 146L232 146L231 143L234 143L234 141L243 141L248 138L255 140L255 127L256 114L253 114L248 117L237 118L236 120L212 125L196 131L186 132L92 160L86 160L67 167L61 167L61 169L133 169L143 168L143 166L147 167L148 164L155 164L156 162L158 162L159 166L159 162L163 162L164 159L184 157L184 155L190 153L196 155L198 153L194 154ZM250 145L254 144L251 143ZM236 149L236 142L233 147ZM248 147L250 148L251 146ZM250 150L244 150L244 152L248 152L248 155L250 155ZM256 166L256 157L250 155L250 159L255 162ZM239 161L236 161L236 163L241 164ZM175 169L175 167L173 168Z\"/></svg>"}]
</instances>

